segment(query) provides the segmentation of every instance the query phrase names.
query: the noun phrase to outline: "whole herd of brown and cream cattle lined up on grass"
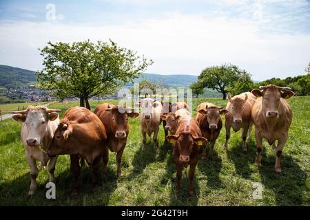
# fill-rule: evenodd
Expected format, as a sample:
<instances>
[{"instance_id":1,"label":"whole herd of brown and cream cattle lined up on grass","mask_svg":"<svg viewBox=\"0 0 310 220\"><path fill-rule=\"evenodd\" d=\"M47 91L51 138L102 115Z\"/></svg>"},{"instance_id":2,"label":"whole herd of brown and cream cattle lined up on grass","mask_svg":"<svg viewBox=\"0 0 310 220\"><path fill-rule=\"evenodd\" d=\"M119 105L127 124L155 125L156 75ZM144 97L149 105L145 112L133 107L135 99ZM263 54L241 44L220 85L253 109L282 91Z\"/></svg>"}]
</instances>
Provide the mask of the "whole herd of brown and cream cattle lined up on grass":
<instances>
[{"instance_id":1,"label":"whole herd of brown and cream cattle lined up on grass","mask_svg":"<svg viewBox=\"0 0 310 220\"><path fill-rule=\"evenodd\" d=\"M214 144L222 128L221 114L225 114L227 148L231 127L242 129L242 149L247 151L251 126L254 123L257 144L256 164L261 164L262 138L276 147L276 172L281 172L280 156L287 141L292 111L285 99L294 93L287 87L268 85L253 89L231 98L226 109L209 102L199 104L196 118L186 102L159 102L145 98L135 104L141 108L141 133L143 147L147 146L146 136L152 137L154 151L158 149L158 131L163 122L166 140L172 143L176 164L176 190L180 188L182 170L189 165L189 195L193 195L193 177L198 152L203 146L202 159L212 156ZM163 111L167 109L167 111ZM39 166L48 166L50 181L54 182L54 170L58 155L70 155L73 174L72 196L78 192L78 179L84 159L92 167L92 184L98 185L98 170L103 159L103 176L107 175L110 151L116 152L117 176L121 175L121 159L129 134L128 118L136 118L139 113L130 107L113 104L99 104L92 111L83 107L72 107L59 120L60 110L47 107L28 107L25 111L12 112L12 118L23 122L21 140L25 146L25 157L30 166L31 184L28 197L37 188ZM168 135L169 131L169 135ZM276 145L276 140L278 144Z\"/></svg>"}]
</instances>

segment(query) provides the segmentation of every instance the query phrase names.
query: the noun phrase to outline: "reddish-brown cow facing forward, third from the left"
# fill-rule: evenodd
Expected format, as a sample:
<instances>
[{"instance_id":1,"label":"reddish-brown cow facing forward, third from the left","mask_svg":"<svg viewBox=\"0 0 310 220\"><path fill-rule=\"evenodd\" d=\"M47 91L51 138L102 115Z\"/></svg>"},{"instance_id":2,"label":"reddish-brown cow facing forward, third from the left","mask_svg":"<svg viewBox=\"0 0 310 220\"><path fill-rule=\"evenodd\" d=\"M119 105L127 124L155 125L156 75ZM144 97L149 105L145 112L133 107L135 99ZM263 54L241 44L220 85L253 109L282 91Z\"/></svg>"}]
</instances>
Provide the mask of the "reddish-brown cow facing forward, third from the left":
<instances>
[{"instance_id":1,"label":"reddish-brown cow facing forward, third from the left","mask_svg":"<svg viewBox=\"0 0 310 220\"><path fill-rule=\"evenodd\" d=\"M116 153L117 162L117 176L121 176L121 159L124 148L127 143L127 137L129 133L128 118L136 118L139 113L134 112L134 109L115 106L109 103L99 104L94 110L94 113L100 118L105 126L107 132L107 147L110 151ZM106 148L106 152L103 154L103 175L107 174L107 162L109 160L109 149Z\"/></svg>"}]
</instances>

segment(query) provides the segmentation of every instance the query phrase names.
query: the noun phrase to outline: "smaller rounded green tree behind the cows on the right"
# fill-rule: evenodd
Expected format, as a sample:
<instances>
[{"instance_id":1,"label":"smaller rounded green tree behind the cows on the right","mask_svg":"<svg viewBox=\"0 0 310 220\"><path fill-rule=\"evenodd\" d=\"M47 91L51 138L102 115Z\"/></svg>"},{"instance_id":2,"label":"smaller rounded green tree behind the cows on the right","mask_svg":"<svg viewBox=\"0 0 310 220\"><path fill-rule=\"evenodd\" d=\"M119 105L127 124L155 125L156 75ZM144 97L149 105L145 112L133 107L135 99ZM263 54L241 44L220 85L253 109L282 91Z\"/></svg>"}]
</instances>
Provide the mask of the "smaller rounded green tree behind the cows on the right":
<instances>
[{"instance_id":1,"label":"smaller rounded green tree behind the cows on the right","mask_svg":"<svg viewBox=\"0 0 310 220\"><path fill-rule=\"evenodd\" d=\"M242 84L239 83L238 92L243 91L243 89L249 87L249 85L253 83L251 77L245 70L239 69L236 65L226 64L207 67L200 76L198 76L198 82L201 87L216 89L216 91L223 94L224 100L229 91L234 91L234 85L242 80L246 81Z\"/></svg>"}]
</instances>

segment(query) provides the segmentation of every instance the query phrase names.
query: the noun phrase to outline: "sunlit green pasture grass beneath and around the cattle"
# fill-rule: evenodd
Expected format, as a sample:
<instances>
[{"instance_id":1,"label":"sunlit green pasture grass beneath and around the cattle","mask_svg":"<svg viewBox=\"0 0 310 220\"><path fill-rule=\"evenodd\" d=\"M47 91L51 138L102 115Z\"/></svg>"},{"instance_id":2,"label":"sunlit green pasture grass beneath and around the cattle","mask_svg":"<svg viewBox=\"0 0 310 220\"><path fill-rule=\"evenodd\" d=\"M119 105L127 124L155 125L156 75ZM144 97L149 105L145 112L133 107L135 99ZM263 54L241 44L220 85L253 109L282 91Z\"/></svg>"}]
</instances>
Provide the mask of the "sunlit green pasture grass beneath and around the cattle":
<instances>
[{"instance_id":1,"label":"sunlit green pasture grass beneath and around the cattle","mask_svg":"<svg viewBox=\"0 0 310 220\"><path fill-rule=\"evenodd\" d=\"M194 108L205 100L225 106L227 101L216 98L194 100ZM116 103L114 101L114 103ZM56 199L45 199L48 172L39 173L38 188L32 199L26 195L30 186L28 164L19 137L21 124L12 120L0 122L0 205L6 206L309 206L310 205L310 97L289 99L293 122L289 140L282 153L282 173L276 174L275 153L264 142L262 166L254 165L256 142L252 132L248 153L242 153L240 131L231 131L229 149L225 151L225 129L218 138L213 160L199 159L194 177L194 196L187 195L187 169L183 172L181 189L176 193L176 168L172 162L172 147L164 144L164 132L159 133L159 150L154 155L148 148L141 152L139 118L130 120L130 135L123 154L123 176L116 178L115 153L110 153L108 177L101 179L101 187L93 190L91 170L81 172L77 199L70 197L70 159L59 156L56 163ZM54 104L50 108L63 112L78 104ZM98 102L91 102L92 110ZM262 199L253 199L253 183L260 182Z\"/></svg>"}]
</instances>

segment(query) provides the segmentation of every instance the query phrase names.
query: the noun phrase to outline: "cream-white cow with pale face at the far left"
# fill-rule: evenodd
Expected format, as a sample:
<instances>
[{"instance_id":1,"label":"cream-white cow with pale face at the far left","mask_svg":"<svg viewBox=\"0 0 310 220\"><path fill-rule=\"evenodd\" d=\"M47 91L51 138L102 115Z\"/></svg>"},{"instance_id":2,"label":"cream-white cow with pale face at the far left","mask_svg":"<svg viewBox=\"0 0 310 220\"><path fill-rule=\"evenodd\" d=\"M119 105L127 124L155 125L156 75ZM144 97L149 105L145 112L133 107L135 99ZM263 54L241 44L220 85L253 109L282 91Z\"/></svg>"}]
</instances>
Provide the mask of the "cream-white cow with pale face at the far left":
<instances>
[{"instance_id":1,"label":"cream-white cow with pale face at the far left","mask_svg":"<svg viewBox=\"0 0 310 220\"><path fill-rule=\"evenodd\" d=\"M54 170L57 157L48 157L45 153L50 146L54 132L59 124L59 112L61 110L48 109L47 107L37 106L28 107L25 111L13 111L12 118L23 122L21 126L21 141L25 146L25 157L30 166L31 184L28 197L34 195L37 188L37 176L39 170L37 161L42 166L48 165L50 181L55 181ZM48 163L48 161L50 161Z\"/></svg>"}]
</instances>

